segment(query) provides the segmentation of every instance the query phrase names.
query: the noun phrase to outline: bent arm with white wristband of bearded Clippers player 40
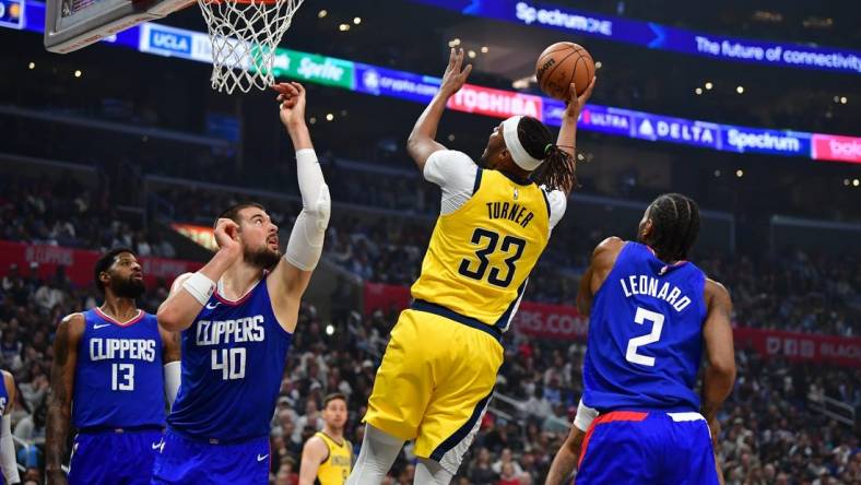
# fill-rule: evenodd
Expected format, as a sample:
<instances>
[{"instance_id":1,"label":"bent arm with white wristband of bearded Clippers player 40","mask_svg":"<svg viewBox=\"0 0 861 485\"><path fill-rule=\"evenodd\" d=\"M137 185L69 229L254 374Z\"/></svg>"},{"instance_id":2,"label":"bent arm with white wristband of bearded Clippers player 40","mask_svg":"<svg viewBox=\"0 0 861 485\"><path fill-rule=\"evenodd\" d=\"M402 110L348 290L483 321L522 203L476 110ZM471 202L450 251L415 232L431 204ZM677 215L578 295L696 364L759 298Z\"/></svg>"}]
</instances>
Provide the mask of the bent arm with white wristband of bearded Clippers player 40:
<instances>
[{"instance_id":1,"label":"bent arm with white wristband of bearded Clippers player 40","mask_svg":"<svg viewBox=\"0 0 861 485\"><path fill-rule=\"evenodd\" d=\"M181 332L191 327L203 305L215 291L215 282L241 256L241 246L236 240L239 225L229 218L220 218L215 224L215 242L219 251L197 273L178 276L170 286L167 299L158 306L158 324L169 332Z\"/></svg>"}]
</instances>

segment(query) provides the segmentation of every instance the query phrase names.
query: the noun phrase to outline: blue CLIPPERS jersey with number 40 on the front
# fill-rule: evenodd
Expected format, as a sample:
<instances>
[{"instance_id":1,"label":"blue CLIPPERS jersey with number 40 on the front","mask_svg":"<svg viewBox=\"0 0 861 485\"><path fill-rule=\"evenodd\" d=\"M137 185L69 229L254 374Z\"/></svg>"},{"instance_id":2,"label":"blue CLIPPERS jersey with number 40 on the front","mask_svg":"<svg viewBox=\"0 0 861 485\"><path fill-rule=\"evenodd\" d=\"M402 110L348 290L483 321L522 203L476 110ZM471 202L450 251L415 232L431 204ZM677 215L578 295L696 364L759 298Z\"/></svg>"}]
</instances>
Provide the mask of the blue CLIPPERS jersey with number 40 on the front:
<instances>
[{"instance_id":1,"label":"blue CLIPPERS jersey with number 40 on the front","mask_svg":"<svg viewBox=\"0 0 861 485\"><path fill-rule=\"evenodd\" d=\"M291 338L272 311L266 276L238 301L215 292L182 331L170 428L225 442L268 436Z\"/></svg>"}]
</instances>

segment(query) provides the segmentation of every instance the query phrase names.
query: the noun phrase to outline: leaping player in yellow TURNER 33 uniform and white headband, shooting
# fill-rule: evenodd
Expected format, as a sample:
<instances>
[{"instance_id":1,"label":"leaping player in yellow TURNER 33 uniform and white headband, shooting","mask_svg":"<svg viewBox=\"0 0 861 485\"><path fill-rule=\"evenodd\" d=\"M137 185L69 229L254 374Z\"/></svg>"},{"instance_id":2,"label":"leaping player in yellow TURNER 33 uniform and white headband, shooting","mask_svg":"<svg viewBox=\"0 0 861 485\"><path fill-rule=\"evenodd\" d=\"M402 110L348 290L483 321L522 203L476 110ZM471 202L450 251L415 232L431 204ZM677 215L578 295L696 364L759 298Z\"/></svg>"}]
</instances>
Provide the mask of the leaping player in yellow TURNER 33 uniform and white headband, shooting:
<instances>
[{"instance_id":1,"label":"leaping player in yellow TURNER 33 uniform and white headband, shooting","mask_svg":"<svg viewBox=\"0 0 861 485\"><path fill-rule=\"evenodd\" d=\"M467 81L451 50L408 149L443 189L441 213L374 382L350 484L379 484L403 441L415 439L415 483L448 484L472 442L503 363L502 334L527 277L565 213L575 184L577 117L594 85L570 85L562 129L515 116L491 133L476 164L435 141L446 103Z\"/></svg>"}]
</instances>

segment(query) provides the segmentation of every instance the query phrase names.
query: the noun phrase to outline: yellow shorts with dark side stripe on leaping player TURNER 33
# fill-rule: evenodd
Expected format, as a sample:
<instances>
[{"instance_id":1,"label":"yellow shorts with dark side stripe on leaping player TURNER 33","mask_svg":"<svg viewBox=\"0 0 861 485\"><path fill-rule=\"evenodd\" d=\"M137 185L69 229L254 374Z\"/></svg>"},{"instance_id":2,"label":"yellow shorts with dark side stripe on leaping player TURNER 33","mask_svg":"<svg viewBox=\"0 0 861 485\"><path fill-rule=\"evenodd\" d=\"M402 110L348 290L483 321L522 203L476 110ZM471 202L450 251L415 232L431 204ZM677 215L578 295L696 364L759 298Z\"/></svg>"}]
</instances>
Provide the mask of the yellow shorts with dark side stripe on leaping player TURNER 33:
<instances>
[{"instance_id":1,"label":"yellow shorts with dark side stripe on leaping player TURNER 33","mask_svg":"<svg viewBox=\"0 0 861 485\"><path fill-rule=\"evenodd\" d=\"M415 308L401 312L391 331L364 421L415 439L416 457L457 473L491 400L503 345L490 326L480 330L476 320L472 328Z\"/></svg>"}]
</instances>

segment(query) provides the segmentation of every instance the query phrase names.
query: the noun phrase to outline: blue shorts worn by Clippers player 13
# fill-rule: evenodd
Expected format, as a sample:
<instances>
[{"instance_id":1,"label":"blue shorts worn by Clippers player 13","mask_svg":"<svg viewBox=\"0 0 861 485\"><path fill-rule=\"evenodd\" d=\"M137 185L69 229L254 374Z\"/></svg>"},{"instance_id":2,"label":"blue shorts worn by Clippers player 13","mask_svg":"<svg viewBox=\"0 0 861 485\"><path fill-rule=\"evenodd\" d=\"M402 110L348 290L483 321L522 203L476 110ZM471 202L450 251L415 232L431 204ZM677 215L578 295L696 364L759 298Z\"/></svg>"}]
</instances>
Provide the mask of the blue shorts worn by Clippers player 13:
<instances>
[{"instance_id":1,"label":"blue shorts worn by Clippers player 13","mask_svg":"<svg viewBox=\"0 0 861 485\"><path fill-rule=\"evenodd\" d=\"M80 433L69 463L69 485L143 485L153 474L161 429Z\"/></svg>"}]
</instances>

